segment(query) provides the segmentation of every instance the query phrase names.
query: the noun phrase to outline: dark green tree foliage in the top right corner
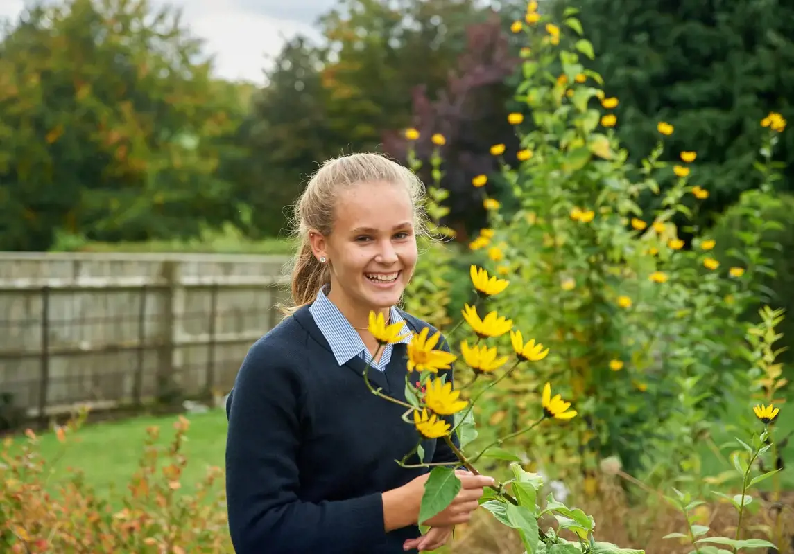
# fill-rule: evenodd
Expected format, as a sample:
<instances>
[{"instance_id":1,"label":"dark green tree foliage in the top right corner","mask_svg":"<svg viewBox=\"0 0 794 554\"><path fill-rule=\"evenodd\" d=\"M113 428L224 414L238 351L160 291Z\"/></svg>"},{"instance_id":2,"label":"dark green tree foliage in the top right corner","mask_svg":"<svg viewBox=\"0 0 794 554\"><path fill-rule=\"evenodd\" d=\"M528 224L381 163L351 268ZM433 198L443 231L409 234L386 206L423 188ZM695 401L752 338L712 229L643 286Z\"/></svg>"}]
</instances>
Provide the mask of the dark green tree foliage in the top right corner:
<instances>
[{"instance_id":1,"label":"dark green tree foliage in the top right corner","mask_svg":"<svg viewBox=\"0 0 794 554\"><path fill-rule=\"evenodd\" d=\"M571 2L553 2L559 13ZM638 163L656 143L655 122L677 129L661 159L698 147L692 180L711 192L701 224L734 204L742 191L757 189L756 145L765 132L761 117L777 110L789 119L792 106L794 7L787 2L576 2L580 20L599 56L585 63L620 98L615 109L621 141ZM794 136L782 137L776 155L785 162L781 190L792 189ZM674 185L661 180L663 188ZM657 197L641 199L646 207Z\"/></svg>"}]
</instances>

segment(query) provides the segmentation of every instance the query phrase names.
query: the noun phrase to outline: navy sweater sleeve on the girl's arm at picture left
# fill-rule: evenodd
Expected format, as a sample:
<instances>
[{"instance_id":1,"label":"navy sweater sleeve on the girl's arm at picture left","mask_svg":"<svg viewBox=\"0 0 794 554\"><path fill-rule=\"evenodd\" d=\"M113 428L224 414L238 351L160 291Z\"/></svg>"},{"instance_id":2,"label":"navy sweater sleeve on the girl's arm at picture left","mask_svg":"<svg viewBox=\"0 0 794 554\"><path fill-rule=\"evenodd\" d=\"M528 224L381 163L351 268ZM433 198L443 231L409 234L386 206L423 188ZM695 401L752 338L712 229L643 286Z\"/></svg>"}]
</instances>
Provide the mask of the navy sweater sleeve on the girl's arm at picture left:
<instances>
[{"instance_id":1,"label":"navy sweater sleeve on the girl's arm at picture left","mask_svg":"<svg viewBox=\"0 0 794 554\"><path fill-rule=\"evenodd\" d=\"M379 494L333 502L299 499L297 464L306 388L288 355L252 346L227 403L226 497L237 554L336 554L384 540ZM294 362L292 362L294 363Z\"/></svg>"}]
</instances>

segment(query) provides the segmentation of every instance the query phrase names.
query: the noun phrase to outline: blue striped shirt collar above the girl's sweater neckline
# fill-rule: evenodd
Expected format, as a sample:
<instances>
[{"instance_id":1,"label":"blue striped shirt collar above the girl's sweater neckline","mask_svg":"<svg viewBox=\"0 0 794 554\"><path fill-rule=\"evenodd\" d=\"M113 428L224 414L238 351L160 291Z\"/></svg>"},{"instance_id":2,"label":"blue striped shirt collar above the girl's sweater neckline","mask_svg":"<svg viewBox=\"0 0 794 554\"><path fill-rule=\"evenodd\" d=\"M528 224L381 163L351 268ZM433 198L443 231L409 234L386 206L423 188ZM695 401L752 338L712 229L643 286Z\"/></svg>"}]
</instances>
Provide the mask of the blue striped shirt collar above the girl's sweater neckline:
<instances>
[{"instance_id":1,"label":"blue striped shirt collar above the girl's sweater neckline","mask_svg":"<svg viewBox=\"0 0 794 554\"><path fill-rule=\"evenodd\" d=\"M314 323L317 323L317 327L320 328L326 341L328 341L333 357L337 359L339 365L345 365L358 356L369 362L375 369L380 371L386 369L391 360L393 347L387 344L380 355L380 361L373 361L372 354L364 346L364 341L361 340L353 325L342 315L339 308L328 300L328 296L326 296L324 291L321 290L317 293L317 299L309 307L309 313L314 318ZM399 315L399 311L395 307L391 307L389 314L389 323L405 323L405 319L402 315ZM406 330L410 329L406 326ZM410 342L410 333L399 342L408 344Z\"/></svg>"}]
</instances>

